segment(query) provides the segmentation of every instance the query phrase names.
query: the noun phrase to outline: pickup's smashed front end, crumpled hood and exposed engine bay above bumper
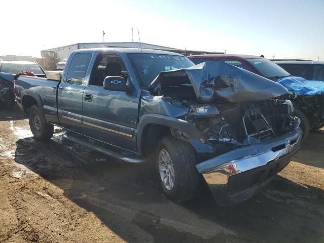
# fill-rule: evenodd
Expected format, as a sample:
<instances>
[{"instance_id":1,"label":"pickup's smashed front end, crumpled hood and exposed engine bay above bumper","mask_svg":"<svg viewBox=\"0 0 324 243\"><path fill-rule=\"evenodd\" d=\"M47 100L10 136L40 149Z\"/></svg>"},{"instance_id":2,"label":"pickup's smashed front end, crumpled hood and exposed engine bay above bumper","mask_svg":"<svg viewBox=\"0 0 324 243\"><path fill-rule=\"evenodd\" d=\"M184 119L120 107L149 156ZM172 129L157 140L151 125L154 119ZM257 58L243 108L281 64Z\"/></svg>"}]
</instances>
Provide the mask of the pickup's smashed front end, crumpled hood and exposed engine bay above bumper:
<instances>
[{"instance_id":1,"label":"pickup's smashed front end, crumpled hood and exposed engine bay above bumper","mask_svg":"<svg viewBox=\"0 0 324 243\"><path fill-rule=\"evenodd\" d=\"M203 135L200 142L218 153L273 139L300 125L300 119L292 115L292 102L281 98L286 88L222 62L161 72L150 91L169 104L163 105L166 109L183 108L175 117L194 123ZM190 139L181 130L171 129L171 133Z\"/></svg>"}]
</instances>

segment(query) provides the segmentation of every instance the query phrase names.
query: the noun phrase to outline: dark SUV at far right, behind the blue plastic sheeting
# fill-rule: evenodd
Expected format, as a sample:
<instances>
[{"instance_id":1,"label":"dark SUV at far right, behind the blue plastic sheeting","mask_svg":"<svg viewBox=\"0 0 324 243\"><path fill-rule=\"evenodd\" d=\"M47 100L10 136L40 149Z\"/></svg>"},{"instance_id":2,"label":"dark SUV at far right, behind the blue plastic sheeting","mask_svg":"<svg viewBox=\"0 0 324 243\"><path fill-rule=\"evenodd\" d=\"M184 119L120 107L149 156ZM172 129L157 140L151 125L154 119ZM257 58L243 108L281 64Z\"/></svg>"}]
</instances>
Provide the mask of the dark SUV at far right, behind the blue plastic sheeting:
<instances>
[{"instance_id":1,"label":"dark SUV at far right, behind the blue plastic sheeting","mask_svg":"<svg viewBox=\"0 0 324 243\"><path fill-rule=\"evenodd\" d=\"M307 60L273 60L294 76L324 81L324 62Z\"/></svg>"}]
</instances>

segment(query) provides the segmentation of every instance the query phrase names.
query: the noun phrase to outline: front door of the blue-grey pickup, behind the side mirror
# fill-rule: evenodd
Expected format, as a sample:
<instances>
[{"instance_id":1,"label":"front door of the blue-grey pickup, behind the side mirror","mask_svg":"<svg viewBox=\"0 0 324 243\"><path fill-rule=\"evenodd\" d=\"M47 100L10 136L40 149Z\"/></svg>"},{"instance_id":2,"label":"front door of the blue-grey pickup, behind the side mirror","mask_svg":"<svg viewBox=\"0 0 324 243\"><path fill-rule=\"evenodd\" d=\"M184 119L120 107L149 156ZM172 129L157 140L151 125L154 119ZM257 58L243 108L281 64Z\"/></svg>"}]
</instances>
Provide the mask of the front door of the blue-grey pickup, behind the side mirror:
<instances>
[{"instance_id":1,"label":"front door of the blue-grey pickup, behind the side mirror","mask_svg":"<svg viewBox=\"0 0 324 243\"><path fill-rule=\"evenodd\" d=\"M83 134L124 149L136 149L136 128L140 91L111 91L103 88L106 76L123 76L127 84L131 77L121 57L99 54L89 85L84 90Z\"/></svg>"}]
</instances>

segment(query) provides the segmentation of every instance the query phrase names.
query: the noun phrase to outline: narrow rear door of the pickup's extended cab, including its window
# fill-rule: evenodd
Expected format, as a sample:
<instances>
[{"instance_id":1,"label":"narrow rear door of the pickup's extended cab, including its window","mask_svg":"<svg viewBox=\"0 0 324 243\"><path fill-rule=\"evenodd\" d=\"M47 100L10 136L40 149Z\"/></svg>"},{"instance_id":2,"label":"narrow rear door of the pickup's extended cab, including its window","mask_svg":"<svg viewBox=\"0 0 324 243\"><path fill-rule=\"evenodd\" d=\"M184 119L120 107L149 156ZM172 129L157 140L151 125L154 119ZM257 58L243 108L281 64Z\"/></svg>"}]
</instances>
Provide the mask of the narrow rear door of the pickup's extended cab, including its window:
<instances>
[{"instance_id":1,"label":"narrow rear door of the pickup's extended cab, including its window","mask_svg":"<svg viewBox=\"0 0 324 243\"><path fill-rule=\"evenodd\" d=\"M63 127L82 130L83 92L89 79L88 68L92 53L72 54L58 91L58 114Z\"/></svg>"}]
</instances>

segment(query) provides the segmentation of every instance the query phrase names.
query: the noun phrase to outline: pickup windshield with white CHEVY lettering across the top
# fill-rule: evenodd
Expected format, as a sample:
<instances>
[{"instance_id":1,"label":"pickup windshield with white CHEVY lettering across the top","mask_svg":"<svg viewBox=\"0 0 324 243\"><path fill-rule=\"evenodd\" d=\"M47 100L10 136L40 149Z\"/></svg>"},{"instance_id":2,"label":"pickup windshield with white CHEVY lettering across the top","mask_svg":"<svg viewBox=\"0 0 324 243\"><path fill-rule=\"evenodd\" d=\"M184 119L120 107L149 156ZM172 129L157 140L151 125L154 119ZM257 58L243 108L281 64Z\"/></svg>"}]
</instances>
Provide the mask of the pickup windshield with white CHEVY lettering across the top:
<instances>
[{"instance_id":1,"label":"pickup windshield with white CHEVY lettering across the top","mask_svg":"<svg viewBox=\"0 0 324 243\"><path fill-rule=\"evenodd\" d=\"M177 55L129 54L129 58L138 78L146 87L160 72L194 65L188 58Z\"/></svg>"}]
</instances>

